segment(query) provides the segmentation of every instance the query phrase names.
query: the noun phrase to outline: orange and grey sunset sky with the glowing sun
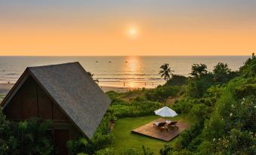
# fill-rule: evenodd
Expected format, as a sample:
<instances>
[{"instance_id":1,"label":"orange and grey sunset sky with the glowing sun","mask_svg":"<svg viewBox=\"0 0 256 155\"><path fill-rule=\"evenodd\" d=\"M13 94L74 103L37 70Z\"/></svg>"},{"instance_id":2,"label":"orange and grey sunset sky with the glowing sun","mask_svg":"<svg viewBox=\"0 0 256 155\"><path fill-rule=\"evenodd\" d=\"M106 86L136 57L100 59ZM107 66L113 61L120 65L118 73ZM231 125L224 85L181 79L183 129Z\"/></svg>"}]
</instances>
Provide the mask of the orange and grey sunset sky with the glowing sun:
<instances>
[{"instance_id":1,"label":"orange and grey sunset sky with the glowing sun","mask_svg":"<svg viewBox=\"0 0 256 155\"><path fill-rule=\"evenodd\" d=\"M0 0L0 55L249 55L256 0Z\"/></svg>"}]
</instances>

